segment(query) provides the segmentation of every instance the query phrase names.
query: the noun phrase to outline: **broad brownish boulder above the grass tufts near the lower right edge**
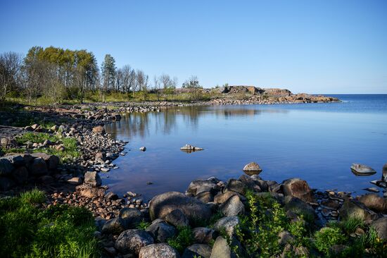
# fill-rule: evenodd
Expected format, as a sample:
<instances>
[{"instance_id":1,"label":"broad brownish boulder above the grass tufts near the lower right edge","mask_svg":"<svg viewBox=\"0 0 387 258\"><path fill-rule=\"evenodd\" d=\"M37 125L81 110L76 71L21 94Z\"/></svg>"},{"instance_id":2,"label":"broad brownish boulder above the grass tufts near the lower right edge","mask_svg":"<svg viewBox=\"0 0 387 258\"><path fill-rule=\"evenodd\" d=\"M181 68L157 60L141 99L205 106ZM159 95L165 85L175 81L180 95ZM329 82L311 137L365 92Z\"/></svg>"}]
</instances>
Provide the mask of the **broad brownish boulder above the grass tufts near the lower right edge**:
<instances>
[{"instance_id":1,"label":"broad brownish boulder above the grass tufts near the lower right edge","mask_svg":"<svg viewBox=\"0 0 387 258\"><path fill-rule=\"evenodd\" d=\"M370 211L361 202L357 202L353 199L345 199L345 202L339 210L340 219L348 219L350 217L362 219L368 221L376 219L378 216L373 211Z\"/></svg>"}]
</instances>

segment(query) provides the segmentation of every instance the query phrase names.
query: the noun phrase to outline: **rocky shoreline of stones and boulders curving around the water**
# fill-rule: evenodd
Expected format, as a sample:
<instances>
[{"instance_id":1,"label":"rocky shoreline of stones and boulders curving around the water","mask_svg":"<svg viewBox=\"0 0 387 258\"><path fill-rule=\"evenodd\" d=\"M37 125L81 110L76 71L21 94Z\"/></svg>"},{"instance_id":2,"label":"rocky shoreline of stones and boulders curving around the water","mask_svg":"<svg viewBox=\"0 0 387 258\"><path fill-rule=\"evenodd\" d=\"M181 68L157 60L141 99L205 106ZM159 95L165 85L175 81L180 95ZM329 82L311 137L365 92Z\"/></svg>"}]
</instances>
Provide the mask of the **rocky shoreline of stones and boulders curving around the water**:
<instances>
[{"instance_id":1,"label":"rocky shoreline of stones and boulders curving around the water","mask_svg":"<svg viewBox=\"0 0 387 258\"><path fill-rule=\"evenodd\" d=\"M294 95L296 96L296 95ZM127 142L113 140L106 134L103 125L120 121L120 113L160 111L170 106L191 106L203 104L275 104L275 103L310 103L336 102L331 97L323 99L271 99L257 97L246 101L213 99L210 102L195 103L108 103L77 106L39 107L15 113L1 113L0 126L1 147L4 149L23 147L25 154L6 154L0 157L0 196L13 196L18 192L38 186L44 190L48 199L43 207L55 204L69 204L86 207L96 217L99 231L95 232L103 245L104 257L180 257L167 240L174 238L179 228L190 226L194 242L186 247L182 257L235 257L235 250L229 245L240 246L236 236L239 217L247 213L246 189L255 195L269 195L286 210L290 221L312 218L315 226L324 228L328 221L337 221L350 216L357 216L367 225L377 228L379 237L387 239L387 202L386 198L375 194L353 197L350 192L326 190L324 192L310 189L305 180L290 178L282 183L263 180L255 173L231 178L224 182L217 178L194 180L186 192L165 192L153 197L151 202L141 199L137 193L129 192L120 197L103 186L99 173L114 169L114 159L125 155ZM296 102L297 101L297 102ZM113 106L113 108L106 108ZM32 116L33 121L55 123L45 128L38 123L23 128L12 127L20 117ZM42 119L42 117L44 119ZM61 123L58 123L61 121ZM10 128L12 130L10 130ZM27 142L18 146L13 137L20 133L49 133L60 139L74 138L80 156L65 164L60 164L59 157L44 153L34 153L39 148L60 148L59 142ZM63 146L62 146L63 147ZM29 154L32 153L32 154ZM258 165L258 164L257 164ZM386 170L387 168L383 168ZM16 172L16 173L15 173ZM260 171L259 171L260 172ZM383 175L384 175L383 171ZM21 175L21 176L20 176ZM385 176L386 176L385 175ZM382 176L381 183L385 177ZM198 221L209 221L216 214L221 214L213 226L199 225ZM302 214L302 216L301 216ZM147 223L139 229L139 223ZM308 222L309 223L309 222ZM362 228L353 233L352 238L362 235ZM229 238L222 235L224 231ZM364 233L364 231L363 231ZM296 252L309 256L307 250L292 246L287 233L281 233L279 239L286 246L286 252ZM284 239L283 239L284 238ZM290 238L289 238L290 239ZM289 252L290 252L289 251ZM286 252L281 254L286 257Z\"/></svg>"}]
</instances>

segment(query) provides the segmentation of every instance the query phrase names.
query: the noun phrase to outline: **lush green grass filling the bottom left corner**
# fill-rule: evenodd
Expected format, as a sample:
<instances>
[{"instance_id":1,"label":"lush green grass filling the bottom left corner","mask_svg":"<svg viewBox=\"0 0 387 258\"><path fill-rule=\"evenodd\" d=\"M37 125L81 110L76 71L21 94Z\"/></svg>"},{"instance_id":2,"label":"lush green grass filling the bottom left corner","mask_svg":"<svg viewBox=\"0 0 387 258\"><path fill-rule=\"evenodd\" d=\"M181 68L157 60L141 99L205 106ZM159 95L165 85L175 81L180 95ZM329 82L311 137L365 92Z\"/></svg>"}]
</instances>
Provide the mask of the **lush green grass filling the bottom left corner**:
<instances>
[{"instance_id":1,"label":"lush green grass filling the bottom left corner","mask_svg":"<svg viewBox=\"0 0 387 258\"><path fill-rule=\"evenodd\" d=\"M44 192L0 199L0 257L99 257L94 219L81 207L39 209Z\"/></svg>"}]
</instances>

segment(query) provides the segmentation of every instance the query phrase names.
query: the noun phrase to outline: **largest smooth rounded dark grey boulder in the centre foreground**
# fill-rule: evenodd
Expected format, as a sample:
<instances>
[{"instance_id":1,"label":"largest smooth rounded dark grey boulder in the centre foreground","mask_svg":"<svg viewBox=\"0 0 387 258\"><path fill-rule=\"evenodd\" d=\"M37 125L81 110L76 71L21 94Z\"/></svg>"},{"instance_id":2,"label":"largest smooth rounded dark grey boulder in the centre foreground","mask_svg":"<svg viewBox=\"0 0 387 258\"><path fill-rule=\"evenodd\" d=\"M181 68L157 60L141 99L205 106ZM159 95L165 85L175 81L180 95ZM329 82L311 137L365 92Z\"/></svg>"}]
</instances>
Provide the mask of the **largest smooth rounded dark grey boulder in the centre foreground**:
<instances>
[{"instance_id":1,"label":"largest smooth rounded dark grey boulder in the centre foreground","mask_svg":"<svg viewBox=\"0 0 387 258\"><path fill-rule=\"evenodd\" d=\"M153 197L149 203L149 214L152 220L164 219L175 209L180 209L189 221L207 220L212 215L210 207L181 192L164 192Z\"/></svg>"}]
</instances>

